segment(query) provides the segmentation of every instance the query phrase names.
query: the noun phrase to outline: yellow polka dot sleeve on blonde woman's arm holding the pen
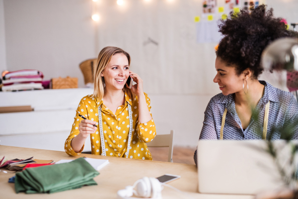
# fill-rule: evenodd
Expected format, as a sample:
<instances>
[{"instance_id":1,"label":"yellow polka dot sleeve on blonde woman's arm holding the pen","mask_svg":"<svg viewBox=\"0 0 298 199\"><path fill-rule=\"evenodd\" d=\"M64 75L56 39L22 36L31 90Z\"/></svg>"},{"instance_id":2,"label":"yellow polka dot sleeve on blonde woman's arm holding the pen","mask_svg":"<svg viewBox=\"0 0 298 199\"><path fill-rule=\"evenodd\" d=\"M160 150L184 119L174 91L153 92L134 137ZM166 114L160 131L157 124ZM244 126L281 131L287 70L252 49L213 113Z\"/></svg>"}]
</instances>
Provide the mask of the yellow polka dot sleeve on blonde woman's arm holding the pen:
<instances>
[{"instance_id":1,"label":"yellow polka dot sleeve on blonde woman's arm holding the pen","mask_svg":"<svg viewBox=\"0 0 298 199\"><path fill-rule=\"evenodd\" d=\"M79 155L84 149L84 145L83 145L82 148L80 149L80 151L78 153L75 153L72 146L71 146L72 139L79 134L78 124L83 119L80 116L78 116L78 114L84 115L86 118L88 118L86 105L84 104L83 99L80 100L80 102L78 104L78 107L75 111L76 111L76 114L75 114L75 117L74 117L74 123L73 123L73 126L72 126L72 131L71 131L71 134L69 135L69 137L66 139L65 146L64 146L65 152L70 156Z\"/></svg>"}]
</instances>

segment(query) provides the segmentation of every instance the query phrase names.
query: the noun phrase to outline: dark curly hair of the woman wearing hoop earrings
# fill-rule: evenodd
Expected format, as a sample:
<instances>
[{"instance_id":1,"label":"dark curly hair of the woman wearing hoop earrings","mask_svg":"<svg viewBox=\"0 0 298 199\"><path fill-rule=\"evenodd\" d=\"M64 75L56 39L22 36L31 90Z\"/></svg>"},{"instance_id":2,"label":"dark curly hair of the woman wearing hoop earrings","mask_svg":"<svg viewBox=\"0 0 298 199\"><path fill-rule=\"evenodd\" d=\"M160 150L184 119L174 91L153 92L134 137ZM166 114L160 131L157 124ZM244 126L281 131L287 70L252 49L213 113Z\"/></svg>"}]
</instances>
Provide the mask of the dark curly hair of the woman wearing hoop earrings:
<instances>
[{"instance_id":1,"label":"dark curly hair of the woman wearing hoop earrings","mask_svg":"<svg viewBox=\"0 0 298 199\"><path fill-rule=\"evenodd\" d=\"M293 32L287 30L282 18L273 16L273 9L266 11L267 5L250 11L241 9L238 13L230 13L230 17L221 20L220 32L224 38L220 41L216 55L227 66L235 66L240 75L245 69L253 71L253 79L263 72L260 66L261 55L265 47L275 39L293 37Z\"/></svg>"}]
</instances>

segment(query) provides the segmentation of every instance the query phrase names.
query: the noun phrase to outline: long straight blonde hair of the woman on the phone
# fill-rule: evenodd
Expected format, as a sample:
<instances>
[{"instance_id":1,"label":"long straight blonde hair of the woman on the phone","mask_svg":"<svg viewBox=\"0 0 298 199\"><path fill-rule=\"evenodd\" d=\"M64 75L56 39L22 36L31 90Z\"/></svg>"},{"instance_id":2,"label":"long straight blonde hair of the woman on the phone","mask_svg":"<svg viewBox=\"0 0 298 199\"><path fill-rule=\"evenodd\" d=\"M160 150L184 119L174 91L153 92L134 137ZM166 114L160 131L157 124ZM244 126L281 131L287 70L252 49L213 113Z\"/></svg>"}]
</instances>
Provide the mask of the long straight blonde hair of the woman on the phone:
<instances>
[{"instance_id":1,"label":"long straight blonde hair of the woman on the phone","mask_svg":"<svg viewBox=\"0 0 298 199\"><path fill-rule=\"evenodd\" d=\"M104 77L101 77L100 74L104 71L108 63L111 61L111 58L113 55L116 54L124 54L128 59L128 65L130 66L131 58L130 55L122 50L121 48L107 46L103 48L97 58L97 64L96 69L94 73L94 92L92 97L97 98L99 100L103 99L103 96L105 95L106 89L105 89L105 82ZM124 85L123 92L127 93L130 99L134 99L135 95L133 92Z\"/></svg>"}]
</instances>

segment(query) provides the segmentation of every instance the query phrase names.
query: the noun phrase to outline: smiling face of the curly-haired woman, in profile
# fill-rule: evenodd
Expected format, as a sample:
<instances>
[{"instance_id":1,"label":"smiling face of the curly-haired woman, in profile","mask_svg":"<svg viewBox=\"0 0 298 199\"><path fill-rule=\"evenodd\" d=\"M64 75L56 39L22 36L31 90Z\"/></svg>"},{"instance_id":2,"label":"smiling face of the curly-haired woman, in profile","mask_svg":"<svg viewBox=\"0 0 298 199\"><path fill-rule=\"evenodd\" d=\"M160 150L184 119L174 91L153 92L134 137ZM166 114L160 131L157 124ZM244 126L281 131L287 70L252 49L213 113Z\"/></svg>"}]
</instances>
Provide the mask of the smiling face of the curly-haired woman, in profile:
<instances>
[{"instance_id":1,"label":"smiling face of the curly-haired woman, in profile","mask_svg":"<svg viewBox=\"0 0 298 199\"><path fill-rule=\"evenodd\" d=\"M217 70L217 75L213 82L219 84L220 90L225 96L243 90L244 75L237 75L235 67L227 66L220 57L217 57L215 69Z\"/></svg>"}]
</instances>

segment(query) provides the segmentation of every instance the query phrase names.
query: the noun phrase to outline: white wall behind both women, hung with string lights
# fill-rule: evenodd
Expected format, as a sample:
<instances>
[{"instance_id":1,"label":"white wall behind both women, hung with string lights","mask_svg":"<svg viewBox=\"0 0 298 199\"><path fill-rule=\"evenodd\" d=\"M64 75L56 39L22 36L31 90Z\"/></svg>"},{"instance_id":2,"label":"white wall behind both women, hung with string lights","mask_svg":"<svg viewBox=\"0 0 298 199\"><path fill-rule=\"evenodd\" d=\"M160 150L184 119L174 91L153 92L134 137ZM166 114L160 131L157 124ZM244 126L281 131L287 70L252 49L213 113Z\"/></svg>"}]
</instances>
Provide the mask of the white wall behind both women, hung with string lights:
<instances>
[{"instance_id":1,"label":"white wall behind both women, hung with string lights","mask_svg":"<svg viewBox=\"0 0 298 199\"><path fill-rule=\"evenodd\" d=\"M0 0L0 42L6 42L0 43L0 67L6 53L8 70L38 69L45 79L78 77L82 87L78 64L107 45L121 47L144 80L159 133L174 129L176 145L195 146L206 105L220 92L213 83L216 43L196 43L194 16L201 14L202 0L126 2L120 7L116 0L99 0L96 24L91 0ZM297 0L267 3L276 16L298 22ZM158 46L144 45L149 37Z\"/></svg>"}]
</instances>

